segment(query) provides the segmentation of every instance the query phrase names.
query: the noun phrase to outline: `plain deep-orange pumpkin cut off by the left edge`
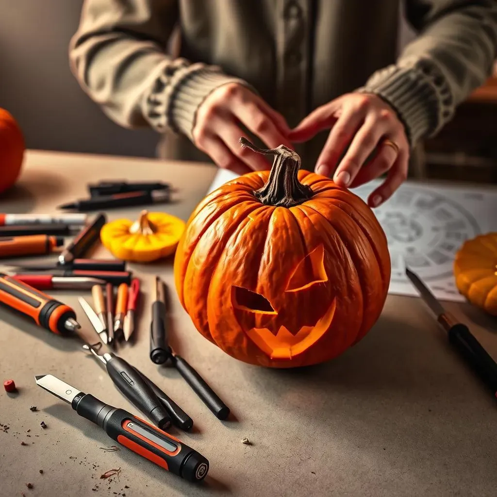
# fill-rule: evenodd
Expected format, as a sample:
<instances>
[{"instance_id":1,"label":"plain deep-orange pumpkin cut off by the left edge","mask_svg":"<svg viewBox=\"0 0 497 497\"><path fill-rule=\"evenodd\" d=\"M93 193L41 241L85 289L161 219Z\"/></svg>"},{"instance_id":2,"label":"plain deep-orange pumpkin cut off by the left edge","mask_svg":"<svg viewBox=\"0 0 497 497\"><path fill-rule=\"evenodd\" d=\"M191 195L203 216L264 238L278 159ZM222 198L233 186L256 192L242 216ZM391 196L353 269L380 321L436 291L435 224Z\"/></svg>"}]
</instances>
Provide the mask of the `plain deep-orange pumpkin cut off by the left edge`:
<instances>
[{"instance_id":1,"label":"plain deep-orange pumpkin cut off by the left edge","mask_svg":"<svg viewBox=\"0 0 497 497\"><path fill-rule=\"evenodd\" d=\"M12 115L0 109L0 193L19 177L24 159L24 137Z\"/></svg>"}]
</instances>

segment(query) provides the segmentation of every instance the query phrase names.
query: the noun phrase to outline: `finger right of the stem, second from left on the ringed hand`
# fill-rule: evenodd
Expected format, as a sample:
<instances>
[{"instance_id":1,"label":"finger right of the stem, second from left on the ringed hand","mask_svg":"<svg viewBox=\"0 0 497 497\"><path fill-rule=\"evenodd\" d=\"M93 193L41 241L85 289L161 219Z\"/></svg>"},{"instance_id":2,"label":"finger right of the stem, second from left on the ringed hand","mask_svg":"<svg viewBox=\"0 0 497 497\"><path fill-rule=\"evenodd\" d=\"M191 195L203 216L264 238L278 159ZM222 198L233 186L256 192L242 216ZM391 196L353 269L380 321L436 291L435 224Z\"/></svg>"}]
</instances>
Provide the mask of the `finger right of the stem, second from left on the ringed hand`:
<instances>
[{"instance_id":1,"label":"finger right of the stem, second from left on the ringed hand","mask_svg":"<svg viewBox=\"0 0 497 497\"><path fill-rule=\"evenodd\" d=\"M343 151L361 125L362 115L353 108L344 109L334 126L316 163L316 172L330 176Z\"/></svg>"}]
</instances>

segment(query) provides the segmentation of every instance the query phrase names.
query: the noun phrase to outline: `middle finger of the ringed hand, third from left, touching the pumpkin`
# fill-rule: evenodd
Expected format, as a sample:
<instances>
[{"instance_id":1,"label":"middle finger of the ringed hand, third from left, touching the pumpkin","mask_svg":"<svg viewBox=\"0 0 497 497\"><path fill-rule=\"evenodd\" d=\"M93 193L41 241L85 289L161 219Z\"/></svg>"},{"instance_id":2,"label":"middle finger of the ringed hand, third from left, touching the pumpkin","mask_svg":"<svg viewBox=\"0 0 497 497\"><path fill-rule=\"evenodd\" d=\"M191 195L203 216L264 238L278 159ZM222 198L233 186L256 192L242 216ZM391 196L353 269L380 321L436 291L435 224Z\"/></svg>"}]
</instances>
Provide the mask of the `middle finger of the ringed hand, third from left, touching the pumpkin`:
<instances>
[{"instance_id":1,"label":"middle finger of the ringed hand, third from left, touching the pumpkin","mask_svg":"<svg viewBox=\"0 0 497 497\"><path fill-rule=\"evenodd\" d=\"M366 118L333 175L333 181L338 186L347 187L354 181L361 166L374 152L386 131L386 126L378 122L374 116Z\"/></svg>"}]
</instances>

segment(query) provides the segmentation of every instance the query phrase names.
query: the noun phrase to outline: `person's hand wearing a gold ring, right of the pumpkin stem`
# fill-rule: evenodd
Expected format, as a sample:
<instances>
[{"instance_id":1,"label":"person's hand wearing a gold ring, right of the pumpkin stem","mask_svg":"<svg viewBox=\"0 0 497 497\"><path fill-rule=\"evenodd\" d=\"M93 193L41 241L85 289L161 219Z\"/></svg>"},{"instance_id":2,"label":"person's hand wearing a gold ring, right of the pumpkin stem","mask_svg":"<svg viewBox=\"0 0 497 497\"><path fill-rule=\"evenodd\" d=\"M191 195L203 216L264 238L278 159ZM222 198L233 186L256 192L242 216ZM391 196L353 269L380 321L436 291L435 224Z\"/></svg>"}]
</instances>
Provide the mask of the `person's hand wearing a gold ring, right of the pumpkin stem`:
<instances>
[{"instance_id":1,"label":"person's hand wearing a gold ring, right of the pumpkin stem","mask_svg":"<svg viewBox=\"0 0 497 497\"><path fill-rule=\"evenodd\" d=\"M387 200L406 179L410 147L404 125L379 96L342 95L314 110L288 138L304 142L324 129L331 131L316 164L318 174L331 176L334 171L333 180L339 186L353 188L388 171L385 181L368 198L371 207Z\"/></svg>"}]
</instances>

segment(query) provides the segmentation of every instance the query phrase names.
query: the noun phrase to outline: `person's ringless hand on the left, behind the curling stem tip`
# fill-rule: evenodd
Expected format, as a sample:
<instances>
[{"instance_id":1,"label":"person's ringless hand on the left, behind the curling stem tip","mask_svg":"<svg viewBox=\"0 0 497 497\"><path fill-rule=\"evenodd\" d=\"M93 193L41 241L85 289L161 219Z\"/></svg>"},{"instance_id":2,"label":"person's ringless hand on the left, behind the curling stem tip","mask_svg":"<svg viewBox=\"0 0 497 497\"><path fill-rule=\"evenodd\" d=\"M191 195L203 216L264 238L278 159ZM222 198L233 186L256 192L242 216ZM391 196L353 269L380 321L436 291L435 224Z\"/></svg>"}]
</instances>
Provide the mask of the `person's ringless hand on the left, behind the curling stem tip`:
<instances>
[{"instance_id":1,"label":"person's ringless hand on the left, behind the curling stem tip","mask_svg":"<svg viewBox=\"0 0 497 497\"><path fill-rule=\"evenodd\" d=\"M245 126L269 149L283 144L293 149L287 138L290 129L284 117L247 87L228 83L215 89L199 106L192 135L194 144L219 166L239 174L267 170L271 165L263 156L240 145L248 139Z\"/></svg>"}]
</instances>

